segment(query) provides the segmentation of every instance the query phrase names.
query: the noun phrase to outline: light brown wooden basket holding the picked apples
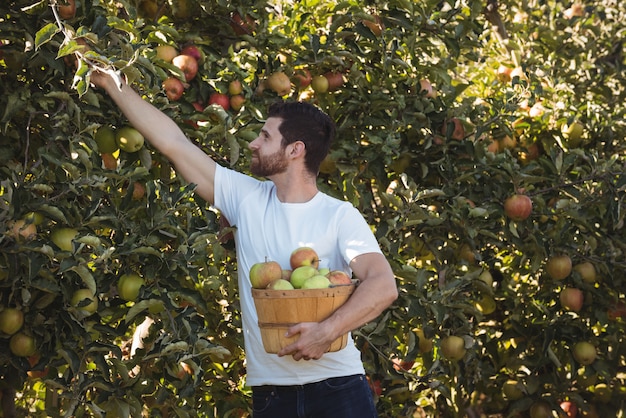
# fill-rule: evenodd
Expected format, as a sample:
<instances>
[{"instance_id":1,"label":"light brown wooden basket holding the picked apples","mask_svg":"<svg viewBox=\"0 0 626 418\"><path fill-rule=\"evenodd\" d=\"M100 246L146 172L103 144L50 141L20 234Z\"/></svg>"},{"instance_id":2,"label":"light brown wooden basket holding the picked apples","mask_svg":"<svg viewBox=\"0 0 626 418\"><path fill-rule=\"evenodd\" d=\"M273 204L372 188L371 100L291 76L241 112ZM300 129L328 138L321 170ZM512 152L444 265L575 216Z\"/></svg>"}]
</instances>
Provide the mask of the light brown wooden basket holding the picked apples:
<instances>
[{"instance_id":1,"label":"light brown wooden basket holding the picked apples","mask_svg":"<svg viewBox=\"0 0 626 418\"><path fill-rule=\"evenodd\" d=\"M297 335L285 337L289 327L300 322L323 321L348 300L354 288L355 284L327 289L252 289L265 351L276 354L295 342ZM347 343L348 334L342 335L328 351L339 351Z\"/></svg>"}]
</instances>

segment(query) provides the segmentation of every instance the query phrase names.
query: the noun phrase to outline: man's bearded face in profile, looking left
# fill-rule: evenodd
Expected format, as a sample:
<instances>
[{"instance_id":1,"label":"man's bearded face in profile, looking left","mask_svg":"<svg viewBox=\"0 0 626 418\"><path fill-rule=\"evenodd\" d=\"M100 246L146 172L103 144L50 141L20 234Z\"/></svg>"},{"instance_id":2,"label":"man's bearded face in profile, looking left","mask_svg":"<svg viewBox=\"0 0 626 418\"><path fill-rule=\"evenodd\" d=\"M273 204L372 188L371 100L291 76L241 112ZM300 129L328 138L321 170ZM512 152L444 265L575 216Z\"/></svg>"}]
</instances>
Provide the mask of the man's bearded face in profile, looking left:
<instances>
[{"instance_id":1,"label":"man's bearded face in profile, looking left","mask_svg":"<svg viewBox=\"0 0 626 418\"><path fill-rule=\"evenodd\" d=\"M288 160L278 131L281 119L269 118L259 136L248 147L252 151L250 171L255 176L270 178L287 170Z\"/></svg>"}]
</instances>

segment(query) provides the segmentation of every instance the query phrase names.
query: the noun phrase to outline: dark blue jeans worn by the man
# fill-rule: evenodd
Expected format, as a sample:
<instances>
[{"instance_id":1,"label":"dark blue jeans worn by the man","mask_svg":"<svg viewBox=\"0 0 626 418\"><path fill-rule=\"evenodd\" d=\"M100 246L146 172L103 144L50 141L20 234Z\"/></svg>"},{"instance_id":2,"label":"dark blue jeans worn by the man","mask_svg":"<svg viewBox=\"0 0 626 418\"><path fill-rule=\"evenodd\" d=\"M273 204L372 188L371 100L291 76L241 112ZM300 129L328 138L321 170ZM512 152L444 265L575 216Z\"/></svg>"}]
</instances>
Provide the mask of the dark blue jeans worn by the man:
<instances>
[{"instance_id":1,"label":"dark blue jeans worn by the man","mask_svg":"<svg viewBox=\"0 0 626 418\"><path fill-rule=\"evenodd\" d=\"M253 418L376 418L365 376L295 386L254 386Z\"/></svg>"}]
</instances>

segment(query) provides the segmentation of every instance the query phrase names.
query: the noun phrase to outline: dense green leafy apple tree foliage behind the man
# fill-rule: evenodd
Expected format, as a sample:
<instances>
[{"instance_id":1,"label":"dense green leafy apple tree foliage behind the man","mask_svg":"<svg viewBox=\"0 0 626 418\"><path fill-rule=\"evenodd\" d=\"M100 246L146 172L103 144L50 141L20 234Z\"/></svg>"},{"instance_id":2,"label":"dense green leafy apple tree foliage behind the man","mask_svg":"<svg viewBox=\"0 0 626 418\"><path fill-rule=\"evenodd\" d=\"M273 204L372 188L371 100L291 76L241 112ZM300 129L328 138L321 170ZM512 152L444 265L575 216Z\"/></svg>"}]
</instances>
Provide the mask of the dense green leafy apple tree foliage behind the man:
<instances>
[{"instance_id":1,"label":"dense green leafy apple tree foliage behind the man","mask_svg":"<svg viewBox=\"0 0 626 418\"><path fill-rule=\"evenodd\" d=\"M381 416L525 416L565 400L589 416L623 413L626 10L588 1L574 16L570 2L511 3L92 0L63 31L45 0L0 5L0 305L24 312L40 356L11 355L0 335L3 402L15 392L30 416L249 410L228 229L149 145L105 167L95 131L126 121L89 88L87 67L71 64L82 38L91 59L122 69L199 147L242 171L279 99L259 88L269 74L342 72L336 91L294 85L285 98L337 121L320 187L364 213L398 279L397 303L356 332ZM235 12L255 22L249 33L233 29ZM365 24L376 17L380 33ZM181 74L156 59L159 44L202 50L176 102L161 83ZM508 79L501 65L521 72ZM235 79L244 108L207 106ZM562 129L574 121L579 138ZM533 202L520 222L503 210L516 192ZM38 223L34 238L14 236L18 219ZM59 227L78 231L71 251L51 242ZM556 254L592 262L599 280L550 279ZM485 270L493 284L479 278ZM146 282L134 302L117 295L129 272ZM562 308L565 286L584 291L580 311ZM99 298L93 315L70 303L85 287ZM150 344L128 358L147 313ZM447 335L465 339L462 360L442 356ZM588 366L572 355L583 340L598 352ZM506 381L522 394L504 394Z\"/></svg>"}]
</instances>

